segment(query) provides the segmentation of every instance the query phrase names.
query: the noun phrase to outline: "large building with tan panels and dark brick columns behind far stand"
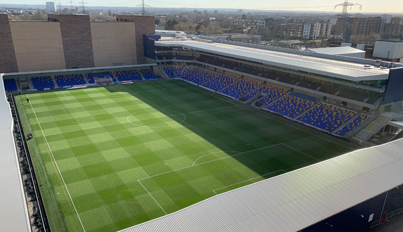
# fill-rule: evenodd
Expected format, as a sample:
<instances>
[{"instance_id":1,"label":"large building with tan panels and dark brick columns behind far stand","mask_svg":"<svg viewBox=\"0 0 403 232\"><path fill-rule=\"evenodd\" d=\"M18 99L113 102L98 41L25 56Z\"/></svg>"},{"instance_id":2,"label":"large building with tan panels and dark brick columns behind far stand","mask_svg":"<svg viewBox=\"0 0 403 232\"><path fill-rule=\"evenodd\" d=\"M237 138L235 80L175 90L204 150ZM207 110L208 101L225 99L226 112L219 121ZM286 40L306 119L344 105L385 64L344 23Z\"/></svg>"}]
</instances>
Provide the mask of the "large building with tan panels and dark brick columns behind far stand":
<instances>
[{"instance_id":1,"label":"large building with tan panels and dark brick columns behind far stand","mask_svg":"<svg viewBox=\"0 0 403 232\"><path fill-rule=\"evenodd\" d=\"M9 21L0 14L0 73L144 64L143 34L155 33L154 16L48 14L48 21Z\"/></svg>"}]
</instances>

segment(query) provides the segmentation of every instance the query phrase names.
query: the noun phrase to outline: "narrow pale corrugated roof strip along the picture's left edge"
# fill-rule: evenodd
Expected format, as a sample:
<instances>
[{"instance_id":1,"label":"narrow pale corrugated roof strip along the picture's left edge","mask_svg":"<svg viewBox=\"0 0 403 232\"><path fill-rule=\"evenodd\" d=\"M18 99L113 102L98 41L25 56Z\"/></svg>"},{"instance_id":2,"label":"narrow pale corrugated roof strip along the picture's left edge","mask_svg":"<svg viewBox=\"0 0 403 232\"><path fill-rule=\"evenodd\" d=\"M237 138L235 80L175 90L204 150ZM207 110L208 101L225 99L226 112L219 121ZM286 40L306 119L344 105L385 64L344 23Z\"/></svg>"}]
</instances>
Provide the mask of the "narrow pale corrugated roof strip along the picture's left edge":
<instances>
[{"instance_id":1,"label":"narrow pale corrugated roof strip along the picture's left edge","mask_svg":"<svg viewBox=\"0 0 403 232\"><path fill-rule=\"evenodd\" d=\"M0 77L2 75L0 74ZM13 118L0 81L0 230L31 231L17 151L13 139Z\"/></svg>"}]
</instances>

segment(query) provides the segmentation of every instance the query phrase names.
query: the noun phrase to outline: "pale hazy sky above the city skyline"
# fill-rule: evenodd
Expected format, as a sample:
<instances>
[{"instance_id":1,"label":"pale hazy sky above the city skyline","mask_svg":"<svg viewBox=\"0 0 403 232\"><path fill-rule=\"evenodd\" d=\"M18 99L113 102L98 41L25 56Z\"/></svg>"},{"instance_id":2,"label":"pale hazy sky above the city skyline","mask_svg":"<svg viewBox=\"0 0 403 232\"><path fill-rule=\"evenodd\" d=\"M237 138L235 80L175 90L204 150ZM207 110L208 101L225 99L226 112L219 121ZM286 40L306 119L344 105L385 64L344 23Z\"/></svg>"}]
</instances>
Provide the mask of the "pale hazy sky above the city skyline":
<instances>
[{"instance_id":1,"label":"pale hazy sky above the city skyline","mask_svg":"<svg viewBox=\"0 0 403 232\"><path fill-rule=\"evenodd\" d=\"M26 4L40 4L44 5L46 1L52 0L30 0L25 1ZM73 0L75 4L79 5L80 0ZM56 0L55 2L59 2ZM141 3L141 0L85 0L87 6L118 6L118 7L135 7ZM231 9L260 9L260 10L289 10L289 11L328 11L328 12L341 12L342 7L334 6L338 3L344 2L343 0L145 0L145 4L151 7L171 7L171 8L195 8L204 10L207 8L231 8ZM379 0L351 0L351 3L362 4L362 10L359 11L358 6L353 6L352 9L348 8L349 13L403 13L403 0L388 0L383 4ZM7 4L24 4L24 0L10 1L5 0L3 3ZM61 1L62 5L67 5L67 0Z\"/></svg>"}]
</instances>

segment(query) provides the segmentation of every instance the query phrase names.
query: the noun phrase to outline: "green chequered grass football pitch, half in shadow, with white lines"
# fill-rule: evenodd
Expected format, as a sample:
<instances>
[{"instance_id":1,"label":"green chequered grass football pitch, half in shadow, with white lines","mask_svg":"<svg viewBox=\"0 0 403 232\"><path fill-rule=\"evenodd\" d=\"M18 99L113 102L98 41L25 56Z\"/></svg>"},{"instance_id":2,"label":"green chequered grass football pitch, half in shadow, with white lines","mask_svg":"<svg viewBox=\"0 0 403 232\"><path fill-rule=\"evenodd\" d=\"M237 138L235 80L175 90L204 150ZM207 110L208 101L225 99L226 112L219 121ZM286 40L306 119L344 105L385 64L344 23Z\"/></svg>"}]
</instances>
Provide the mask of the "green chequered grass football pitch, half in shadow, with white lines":
<instances>
[{"instance_id":1,"label":"green chequered grass football pitch, half in shadow, with white lines","mask_svg":"<svg viewBox=\"0 0 403 232\"><path fill-rule=\"evenodd\" d=\"M117 231L357 148L182 81L16 100L54 231Z\"/></svg>"}]
</instances>

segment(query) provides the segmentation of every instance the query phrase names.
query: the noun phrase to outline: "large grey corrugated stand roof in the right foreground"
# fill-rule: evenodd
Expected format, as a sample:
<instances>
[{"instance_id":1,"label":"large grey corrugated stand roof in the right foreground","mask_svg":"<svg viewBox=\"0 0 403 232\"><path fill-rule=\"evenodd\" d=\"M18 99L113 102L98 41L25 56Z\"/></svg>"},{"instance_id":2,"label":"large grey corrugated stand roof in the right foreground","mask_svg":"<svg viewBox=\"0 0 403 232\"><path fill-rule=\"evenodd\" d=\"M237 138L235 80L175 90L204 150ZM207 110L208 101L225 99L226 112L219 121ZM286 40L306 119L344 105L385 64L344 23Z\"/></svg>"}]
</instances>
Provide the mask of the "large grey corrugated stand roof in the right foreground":
<instances>
[{"instance_id":1,"label":"large grey corrugated stand roof in the right foreground","mask_svg":"<svg viewBox=\"0 0 403 232\"><path fill-rule=\"evenodd\" d=\"M402 147L354 151L121 231L299 231L403 184Z\"/></svg>"}]
</instances>

